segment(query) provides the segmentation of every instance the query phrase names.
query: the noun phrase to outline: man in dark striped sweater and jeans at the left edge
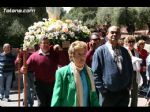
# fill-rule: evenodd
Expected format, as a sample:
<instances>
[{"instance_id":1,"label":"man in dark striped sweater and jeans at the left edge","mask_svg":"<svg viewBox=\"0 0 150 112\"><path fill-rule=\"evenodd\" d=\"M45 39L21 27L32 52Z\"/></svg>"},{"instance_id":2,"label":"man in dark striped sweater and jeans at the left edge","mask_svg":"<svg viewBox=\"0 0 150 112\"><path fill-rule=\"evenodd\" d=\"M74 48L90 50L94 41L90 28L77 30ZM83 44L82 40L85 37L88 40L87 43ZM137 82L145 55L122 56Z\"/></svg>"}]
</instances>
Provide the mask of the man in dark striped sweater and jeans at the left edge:
<instances>
[{"instance_id":1,"label":"man in dark striped sweater and jeans at the left edge","mask_svg":"<svg viewBox=\"0 0 150 112\"><path fill-rule=\"evenodd\" d=\"M9 101L9 92L12 83L12 76L15 70L15 56L11 53L10 44L3 45L3 52L0 54L0 99Z\"/></svg>"}]
</instances>

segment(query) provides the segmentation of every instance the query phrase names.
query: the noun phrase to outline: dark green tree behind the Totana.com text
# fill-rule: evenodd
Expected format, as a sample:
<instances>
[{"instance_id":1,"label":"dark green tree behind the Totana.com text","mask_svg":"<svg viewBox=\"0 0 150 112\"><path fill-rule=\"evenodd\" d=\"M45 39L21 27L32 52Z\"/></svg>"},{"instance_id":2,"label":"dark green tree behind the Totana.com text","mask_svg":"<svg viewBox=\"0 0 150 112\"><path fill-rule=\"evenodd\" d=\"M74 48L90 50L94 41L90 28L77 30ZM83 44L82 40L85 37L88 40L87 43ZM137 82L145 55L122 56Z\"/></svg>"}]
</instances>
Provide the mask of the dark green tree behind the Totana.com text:
<instances>
[{"instance_id":1,"label":"dark green tree behind the Totana.com text","mask_svg":"<svg viewBox=\"0 0 150 112\"><path fill-rule=\"evenodd\" d=\"M6 12L6 9L33 9L34 12L8 13ZM28 27L35 21L40 21L42 18L47 17L45 7L0 7L0 46L6 42L12 44L13 47L21 46L23 43L24 34Z\"/></svg>"}]
</instances>

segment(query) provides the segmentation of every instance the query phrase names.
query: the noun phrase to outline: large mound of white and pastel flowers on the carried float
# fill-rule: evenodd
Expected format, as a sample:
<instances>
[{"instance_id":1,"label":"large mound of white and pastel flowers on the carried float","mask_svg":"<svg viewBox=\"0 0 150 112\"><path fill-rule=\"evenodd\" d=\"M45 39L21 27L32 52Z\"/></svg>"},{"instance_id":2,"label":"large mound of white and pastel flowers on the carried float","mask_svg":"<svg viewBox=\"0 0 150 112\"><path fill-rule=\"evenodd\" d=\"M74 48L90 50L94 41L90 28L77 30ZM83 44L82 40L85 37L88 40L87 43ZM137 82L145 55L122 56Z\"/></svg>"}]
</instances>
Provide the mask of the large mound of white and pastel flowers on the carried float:
<instances>
[{"instance_id":1,"label":"large mound of white and pastel flowers on the carried float","mask_svg":"<svg viewBox=\"0 0 150 112\"><path fill-rule=\"evenodd\" d=\"M25 33L23 49L33 48L38 44L42 35L46 35L54 44L63 41L88 40L90 30L81 21L43 19L35 22Z\"/></svg>"}]
</instances>

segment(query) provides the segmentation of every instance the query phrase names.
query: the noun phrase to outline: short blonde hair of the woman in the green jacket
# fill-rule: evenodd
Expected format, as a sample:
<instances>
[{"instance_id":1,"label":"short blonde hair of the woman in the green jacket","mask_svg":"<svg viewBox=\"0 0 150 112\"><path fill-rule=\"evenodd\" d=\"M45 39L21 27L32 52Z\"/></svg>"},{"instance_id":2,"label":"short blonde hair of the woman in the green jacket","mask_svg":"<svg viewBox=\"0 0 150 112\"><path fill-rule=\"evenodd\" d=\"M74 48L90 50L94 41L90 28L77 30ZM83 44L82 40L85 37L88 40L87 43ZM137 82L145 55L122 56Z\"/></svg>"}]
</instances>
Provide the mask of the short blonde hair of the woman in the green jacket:
<instances>
[{"instance_id":1,"label":"short blonde hair of the woman in the green jacket","mask_svg":"<svg viewBox=\"0 0 150 112\"><path fill-rule=\"evenodd\" d=\"M83 41L78 41L78 40L71 43L68 49L68 55L69 55L70 61L72 61L74 53L79 49L87 49L87 44Z\"/></svg>"}]
</instances>

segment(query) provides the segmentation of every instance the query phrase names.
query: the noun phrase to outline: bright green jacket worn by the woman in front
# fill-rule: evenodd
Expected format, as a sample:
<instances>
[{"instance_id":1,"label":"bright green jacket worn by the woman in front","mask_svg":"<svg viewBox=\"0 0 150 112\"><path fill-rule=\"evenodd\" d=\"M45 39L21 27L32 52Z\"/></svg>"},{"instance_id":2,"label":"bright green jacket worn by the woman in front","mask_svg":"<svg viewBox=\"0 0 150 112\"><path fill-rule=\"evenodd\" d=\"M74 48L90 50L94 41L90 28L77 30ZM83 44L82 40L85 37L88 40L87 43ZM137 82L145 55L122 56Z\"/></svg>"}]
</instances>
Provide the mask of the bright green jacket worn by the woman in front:
<instances>
[{"instance_id":1,"label":"bright green jacket worn by the woman in front","mask_svg":"<svg viewBox=\"0 0 150 112\"><path fill-rule=\"evenodd\" d=\"M91 71L92 72L92 71ZM89 106L99 106L96 91L91 91L91 82L89 76L86 75L89 90ZM55 85L51 100L51 106L76 107L77 93L74 75L70 70L70 64L56 71Z\"/></svg>"}]
</instances>

